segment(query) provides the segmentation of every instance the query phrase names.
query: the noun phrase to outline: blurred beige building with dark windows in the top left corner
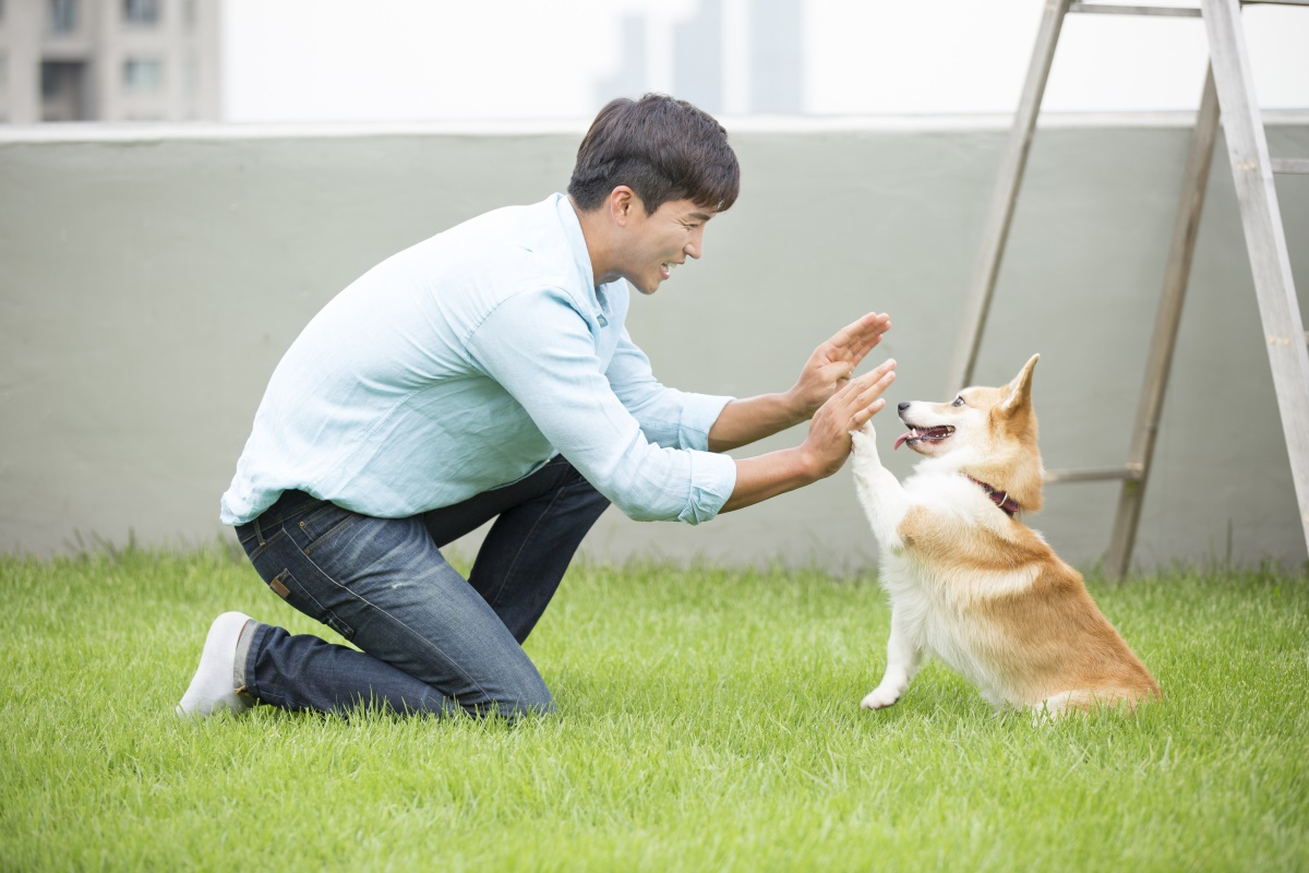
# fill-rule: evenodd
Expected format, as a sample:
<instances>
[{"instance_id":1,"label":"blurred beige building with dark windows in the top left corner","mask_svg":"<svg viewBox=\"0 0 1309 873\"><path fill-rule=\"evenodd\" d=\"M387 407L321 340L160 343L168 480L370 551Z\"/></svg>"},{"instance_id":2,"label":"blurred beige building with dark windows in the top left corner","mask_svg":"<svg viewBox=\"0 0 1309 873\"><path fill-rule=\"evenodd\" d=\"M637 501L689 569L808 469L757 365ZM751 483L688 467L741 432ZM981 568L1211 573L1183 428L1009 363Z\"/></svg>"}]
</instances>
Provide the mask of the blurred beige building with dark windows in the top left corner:
<instances>
[{"instance_id":1,"label":"blurred beige building with dark windows in the top left corner","mask_svg":"<svg viewBox=\"0 0 1309 873\"><path fill-rule=\"evenodd\" d=\"M0 0L0 122L219 120L217 0Z\"/></svg>"}]
</instances>

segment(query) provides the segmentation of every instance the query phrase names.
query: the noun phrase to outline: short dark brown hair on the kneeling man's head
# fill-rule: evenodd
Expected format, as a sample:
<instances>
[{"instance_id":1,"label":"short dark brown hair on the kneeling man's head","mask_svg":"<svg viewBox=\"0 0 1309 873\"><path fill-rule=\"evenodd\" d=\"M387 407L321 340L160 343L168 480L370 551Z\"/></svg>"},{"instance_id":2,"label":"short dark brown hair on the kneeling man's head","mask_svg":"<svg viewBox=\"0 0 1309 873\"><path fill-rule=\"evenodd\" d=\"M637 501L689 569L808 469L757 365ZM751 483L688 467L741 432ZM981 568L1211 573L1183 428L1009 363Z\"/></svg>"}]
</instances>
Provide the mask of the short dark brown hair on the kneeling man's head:
<instances>
[{"instance_id":1,"label":"short dark brown hair on the kneeling man's head","mask_svg":"<svg viewBox=\"0 0 1309 873\"><path fill-rule=\"evenodd\" d=\"M647 215L669 200L717 213L736 202L741 168L726 131L707 113L664 94L619 97L586 131L568 195L590 212L620 185L636 192Z\"/></svg>"}]
</instances>

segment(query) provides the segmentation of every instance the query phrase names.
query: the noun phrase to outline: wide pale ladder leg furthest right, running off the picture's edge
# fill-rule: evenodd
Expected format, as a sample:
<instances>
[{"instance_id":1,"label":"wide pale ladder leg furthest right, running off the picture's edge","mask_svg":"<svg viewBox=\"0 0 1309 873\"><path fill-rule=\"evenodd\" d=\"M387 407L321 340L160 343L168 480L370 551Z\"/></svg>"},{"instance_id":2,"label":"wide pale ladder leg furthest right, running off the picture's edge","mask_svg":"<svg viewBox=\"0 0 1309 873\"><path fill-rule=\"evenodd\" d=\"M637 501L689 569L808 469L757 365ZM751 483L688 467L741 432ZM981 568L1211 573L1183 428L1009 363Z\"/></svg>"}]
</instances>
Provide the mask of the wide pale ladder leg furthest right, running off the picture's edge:
<instances>
[{"instance_id":1,"label":"wide pale ladder leg furthest right, running off the picture's edge","mask_svg":"<svg viewBox=\"0 0 1309 873\"><path fill-rule=\"evenodd\" d=\"M1254 77L1238 1L1200 0L1200 9L1210 38L1213 81L1223 107L1223 131L1250 253L1254 292L1268 343L1272 386L1291 455L1300 524L1309 544L1309 351L1305 349L1278 192L1272 186L1268 143L1254 99Z\"/></svg>"}]
</instances>

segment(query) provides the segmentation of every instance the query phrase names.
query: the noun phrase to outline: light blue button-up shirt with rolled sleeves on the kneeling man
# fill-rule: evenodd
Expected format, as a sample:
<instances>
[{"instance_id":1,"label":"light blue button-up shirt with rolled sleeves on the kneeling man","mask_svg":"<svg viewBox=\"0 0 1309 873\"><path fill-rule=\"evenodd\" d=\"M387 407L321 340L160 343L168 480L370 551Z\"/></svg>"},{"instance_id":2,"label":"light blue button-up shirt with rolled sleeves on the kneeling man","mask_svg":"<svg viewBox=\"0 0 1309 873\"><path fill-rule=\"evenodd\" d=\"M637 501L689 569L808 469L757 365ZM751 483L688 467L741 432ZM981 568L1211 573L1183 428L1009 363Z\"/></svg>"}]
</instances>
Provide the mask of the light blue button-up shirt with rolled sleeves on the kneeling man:
<instances>
[{"instance_id":1,"label":"light blue button-up shirt with rolled sleeves on the kneeling man","mask_svg":"<svg viewBox=\"0 0 1309 873\"><path fill-rule=\"evenodd\" d=\"M283 491L402 518L563 454L639 521L713 518L736 465L707 452L729 397L664 387L596 285L567 196L496 209L384 260L287 351L221 520Z\"/></svg>"}]
</instances>

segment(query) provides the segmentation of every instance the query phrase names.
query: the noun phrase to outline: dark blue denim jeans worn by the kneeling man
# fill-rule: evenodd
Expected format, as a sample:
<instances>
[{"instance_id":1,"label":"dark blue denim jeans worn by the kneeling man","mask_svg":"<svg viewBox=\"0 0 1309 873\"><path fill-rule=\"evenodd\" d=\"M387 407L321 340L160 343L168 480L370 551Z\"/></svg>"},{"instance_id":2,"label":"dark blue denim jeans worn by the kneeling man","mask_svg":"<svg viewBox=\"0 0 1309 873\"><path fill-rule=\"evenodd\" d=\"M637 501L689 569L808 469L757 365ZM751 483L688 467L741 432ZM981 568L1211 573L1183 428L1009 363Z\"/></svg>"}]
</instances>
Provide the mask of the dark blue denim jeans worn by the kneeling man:
<instances>
[{"instance_id":1,"label":"dark blue denim jeans worn by the kneeling man","mask_svg":"<svg viewBox=\"0 0 1309 873\"><path fill-rule=\"evenodd\" d=\"M237 685L285 709L548 712L554 702L522 641L607 505L563 457L410 518L288 491L237 527L241 546L279 597L361 650L254 623L237 649ZM465 580L441 546L496 516Z\"/></svg>"}]
</instances>

